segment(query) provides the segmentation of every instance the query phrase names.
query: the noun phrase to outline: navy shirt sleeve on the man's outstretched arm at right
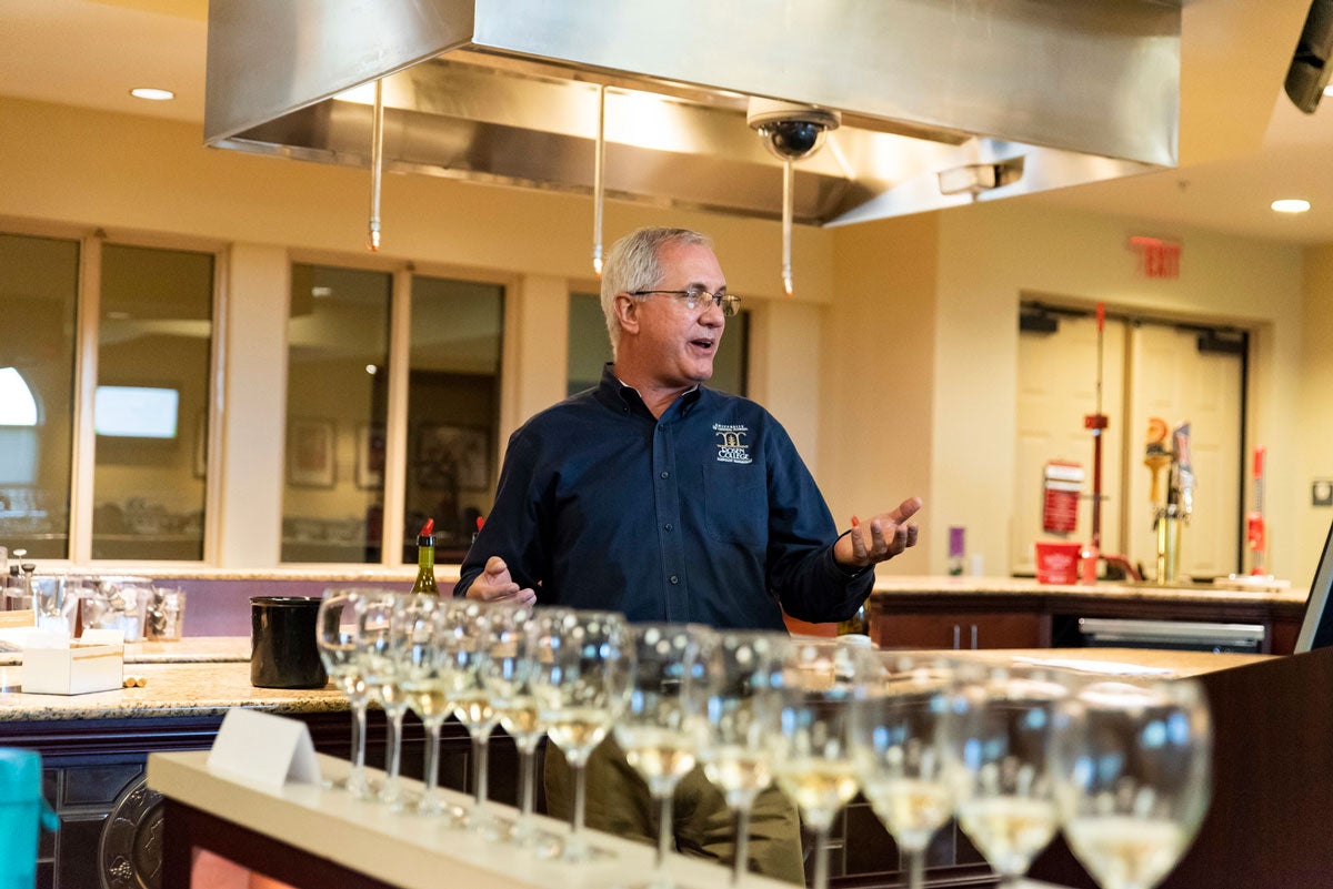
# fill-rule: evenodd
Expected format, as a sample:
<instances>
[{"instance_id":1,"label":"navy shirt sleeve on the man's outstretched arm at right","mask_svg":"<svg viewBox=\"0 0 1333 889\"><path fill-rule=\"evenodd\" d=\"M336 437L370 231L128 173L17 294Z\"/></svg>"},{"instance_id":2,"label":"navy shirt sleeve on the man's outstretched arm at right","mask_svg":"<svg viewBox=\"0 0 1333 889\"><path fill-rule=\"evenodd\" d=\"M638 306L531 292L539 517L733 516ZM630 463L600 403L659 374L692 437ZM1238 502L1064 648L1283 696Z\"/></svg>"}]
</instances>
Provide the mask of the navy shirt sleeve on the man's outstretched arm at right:
<instances>
[{"instance_id":1,"label":"navy shirt sleeve on the man's outstretched arm at right","mask_svg":"<svg viewBox=\"0 0 1333 889\"><path fill-rule=\"evenodd\" d=\"M870 595L874 570L848 571L834 560L838 532L824 495L786 430L769 422L769 591L800 620L846 620Z\"/></svg>"}]
</instances>

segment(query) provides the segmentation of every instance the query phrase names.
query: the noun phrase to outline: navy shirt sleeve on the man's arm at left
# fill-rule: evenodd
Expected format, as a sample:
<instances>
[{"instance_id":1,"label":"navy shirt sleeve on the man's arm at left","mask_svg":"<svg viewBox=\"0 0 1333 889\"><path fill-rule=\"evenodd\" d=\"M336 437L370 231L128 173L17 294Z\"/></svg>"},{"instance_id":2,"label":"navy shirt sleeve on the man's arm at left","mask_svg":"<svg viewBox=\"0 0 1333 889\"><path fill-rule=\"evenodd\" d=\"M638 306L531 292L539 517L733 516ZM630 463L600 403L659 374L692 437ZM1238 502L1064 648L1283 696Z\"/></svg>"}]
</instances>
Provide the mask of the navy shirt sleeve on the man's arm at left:
<instances>
[{"instance_id":1,"label":"navy shirt sleeve on the man's arm at left","mask_svg":"<svg viewBox=\"0 0 1333 889\"><path fill-rule=\"evenodd\" d=\"M540 463L537 448L519 430L509 438L500 483L491 515L477 532L459 571L453 595L463 598L485 568L491 556L500 556L509 567L509 575L520 587L531 587L541 598L541 579L547 574L549 554L548 535L543 534L540 502Z\"/></svg>"}]
</instances>

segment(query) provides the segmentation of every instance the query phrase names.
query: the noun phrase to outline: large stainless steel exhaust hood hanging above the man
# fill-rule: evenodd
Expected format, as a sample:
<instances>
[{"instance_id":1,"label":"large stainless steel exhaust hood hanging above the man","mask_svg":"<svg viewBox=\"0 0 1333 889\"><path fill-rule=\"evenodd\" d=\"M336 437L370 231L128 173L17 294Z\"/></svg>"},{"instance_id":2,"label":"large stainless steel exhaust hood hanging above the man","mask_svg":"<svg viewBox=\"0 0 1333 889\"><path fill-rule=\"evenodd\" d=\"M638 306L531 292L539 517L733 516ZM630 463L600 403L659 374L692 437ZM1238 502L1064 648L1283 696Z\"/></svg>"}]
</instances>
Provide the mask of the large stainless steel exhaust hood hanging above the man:
<instances>
[{"instance_id":1,"label":"large stainless steel exhaust hood hanging above the man","mask_svg":"<svg viewBox=\"0 0 1333 889\"><path fill-rule=\"evenodd\" d=\"M837 225L1174 166L1180 25L1161 0L211 0L204 130L368 166L356 88L383 79L385 169L591 193L605 87L609 197L780 218L758 96L841 112L794 184L797 222Z\"/></svg>"}]
</instances>

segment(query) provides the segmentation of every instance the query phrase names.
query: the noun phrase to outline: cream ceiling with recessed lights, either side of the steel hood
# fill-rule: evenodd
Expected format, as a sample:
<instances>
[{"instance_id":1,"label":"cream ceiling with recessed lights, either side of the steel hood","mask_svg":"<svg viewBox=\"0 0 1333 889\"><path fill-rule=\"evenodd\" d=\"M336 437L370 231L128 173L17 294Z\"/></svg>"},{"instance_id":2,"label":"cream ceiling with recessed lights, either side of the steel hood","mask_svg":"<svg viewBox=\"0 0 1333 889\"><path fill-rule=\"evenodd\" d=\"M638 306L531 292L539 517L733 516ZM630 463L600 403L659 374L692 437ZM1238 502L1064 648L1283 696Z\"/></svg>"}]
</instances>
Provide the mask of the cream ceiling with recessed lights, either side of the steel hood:
<instances>
[{"instance_id":1,"label":"cream ceiling with recessed lights, either side of the steel hood","mask_svg":"<svg viewBox=\"0 0 1333 889\"><path fill-rule=\"evenodd\" d=\"M1322 172L1333 158L1333 100L1302 114L1282 94L1285 71L1273 64L1294 47L1308 5L1190 0L1182 21L1182 166L1009 200L1132 216L1165 237L1189 226L1333 242L1333 176ZM207 31L207 0L4 0L0 94L201 126ZM1272 83L1272 100L1249 109L1254 132L1241 144L1210 138L1233 110L1245 112L1228 104L1236 84L1256 79ZM164 87L177 98L137 100L132 87ZM1217 149L1224 141L1228 149ZM1304 197L1313 209L1273 213L1269 204L1284 197Z\"/></svg>"}]
</instances>

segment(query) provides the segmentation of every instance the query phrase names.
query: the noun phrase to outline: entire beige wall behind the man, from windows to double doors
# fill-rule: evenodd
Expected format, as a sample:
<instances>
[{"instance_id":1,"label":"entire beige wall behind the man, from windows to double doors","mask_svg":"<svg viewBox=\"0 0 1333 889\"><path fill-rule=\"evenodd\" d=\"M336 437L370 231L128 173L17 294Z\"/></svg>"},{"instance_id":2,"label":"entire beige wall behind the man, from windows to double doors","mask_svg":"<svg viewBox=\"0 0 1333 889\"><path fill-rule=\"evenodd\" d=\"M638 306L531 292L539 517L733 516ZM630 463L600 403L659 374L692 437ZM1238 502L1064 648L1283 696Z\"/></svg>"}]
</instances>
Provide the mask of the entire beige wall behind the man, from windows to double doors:
<instances>
[{"instance_id":1,"label":"entire beige wall behind the man, from windows to double doors","mask_svg":"<svg viewBox=\"0 0 1333 889\"><path fill-rule=\"evenodd\" d=\"M199 126L0 98L0 217L100 226L112 238L132 230L232 245L229 402L212 492L227 508L213 551L220 564L264 566L276 558L280 514L288 252L364 258L369 176L200 141ZM564 293L591 287L591 201L391 174L383 218L388 266L412 261L432 273L512 282L507 366L517 373L505 383L503 431L559 398ZM701 228L717 240L728 283L756 311L753 391L792 431L840 524L909 494L926 499L925 544L896 572L942 571L949 524L968 527L969 548L988 574L1008 570L1006 540L1017 532L1009 503L1024 291L1252 327L1252 423L1273 455L1273 564L1297 583L1313 570L1310 540L1322 531L1310 530L1310 518L1326 519L1301 504L1310 474L1333 474L1328 447L1318 446L1329 441L1333 415L1322 347L1333 322L1321 313L1333 253L1310 252L1302 306L1296 248L1162 233L1012 200L800 228L797 295L788 301L776 224L611 202L607 240L653 222ZM1184 238L1181 277L1141 278L1125 244L1130 233Z\"/></svg>"}]
</instances>

